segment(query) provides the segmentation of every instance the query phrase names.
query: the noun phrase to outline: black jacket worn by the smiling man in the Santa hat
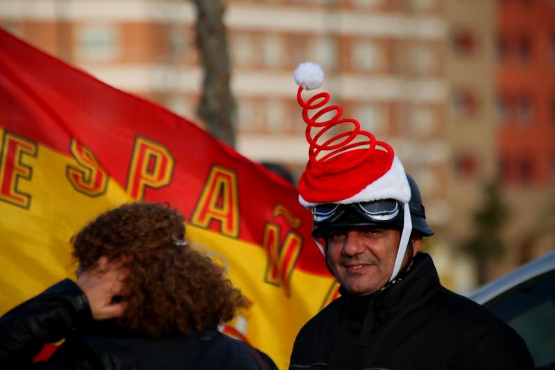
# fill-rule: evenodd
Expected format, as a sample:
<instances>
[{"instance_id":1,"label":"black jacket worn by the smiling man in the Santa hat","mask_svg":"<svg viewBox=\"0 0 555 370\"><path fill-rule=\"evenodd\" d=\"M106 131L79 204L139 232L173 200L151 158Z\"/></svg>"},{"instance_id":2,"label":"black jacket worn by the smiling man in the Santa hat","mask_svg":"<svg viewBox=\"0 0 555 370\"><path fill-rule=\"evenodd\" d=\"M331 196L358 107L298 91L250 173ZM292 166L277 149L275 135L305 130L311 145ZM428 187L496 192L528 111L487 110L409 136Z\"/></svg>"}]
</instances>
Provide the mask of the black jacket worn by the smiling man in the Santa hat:
<instances>
[{"instance_id":1,"label":"black jacket worn by the smiling man in the Santa hat","mask_svg":"<svg viewBox=\"0 0 555 370\"><path fill-rule=\"evenodd\" d=\"M533 369L522 338L442 287L432 258L370 296L342 296L300 330L289 369Z\"/></svg>"}]
</instances>

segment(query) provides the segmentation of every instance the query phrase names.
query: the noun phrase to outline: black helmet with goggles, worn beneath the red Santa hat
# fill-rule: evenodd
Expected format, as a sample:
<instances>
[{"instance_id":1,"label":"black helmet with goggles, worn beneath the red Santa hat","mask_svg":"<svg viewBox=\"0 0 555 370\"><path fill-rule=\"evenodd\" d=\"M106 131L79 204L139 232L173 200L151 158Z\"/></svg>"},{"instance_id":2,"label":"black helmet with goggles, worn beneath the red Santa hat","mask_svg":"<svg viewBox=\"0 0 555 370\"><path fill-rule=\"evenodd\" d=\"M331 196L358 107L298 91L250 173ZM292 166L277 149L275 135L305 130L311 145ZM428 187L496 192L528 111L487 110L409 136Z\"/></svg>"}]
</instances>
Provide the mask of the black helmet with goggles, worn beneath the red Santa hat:
<instances>
[{"instance_id":1,"label":"black helmet with goggles, worn beneath the red Santa hat","mask_svg":"<svg viewBox=\"0 0 555 370\"><path fill-rule=\"evenodd\" d=\"M409 210L412 230L422 236L434 235L434 230L426 223L426 214L418 185L409 174L406 175L411 188ZM311 211L312 236L315 238L323 237L329 230L335 228L375 226L402 230L404 224L403 204L395 199L350 204L318 204L312 207Z\"/></svg>"}]
</instances>

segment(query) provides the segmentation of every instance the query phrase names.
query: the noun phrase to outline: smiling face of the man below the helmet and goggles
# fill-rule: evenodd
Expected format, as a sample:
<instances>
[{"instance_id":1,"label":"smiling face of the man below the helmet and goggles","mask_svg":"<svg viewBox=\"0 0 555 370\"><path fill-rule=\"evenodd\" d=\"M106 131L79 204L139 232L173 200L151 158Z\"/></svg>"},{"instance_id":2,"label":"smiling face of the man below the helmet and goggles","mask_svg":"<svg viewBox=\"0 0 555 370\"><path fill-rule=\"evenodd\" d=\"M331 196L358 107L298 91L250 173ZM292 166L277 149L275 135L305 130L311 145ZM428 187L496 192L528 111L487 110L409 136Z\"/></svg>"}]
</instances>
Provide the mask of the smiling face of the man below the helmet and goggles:
<instances>
[{"instance_id":1,"label":"smiling face of the man below the helmet and goggles","mask_svg":"<svg viewBox=\"0 0 555 370\"><path fill-rule=\"evenodd\" d=\"M400 237L400 231L394 229L333 230L327 237L326 258L348 292L365 296L386 285L391 277Z\"/></svg>"}]
</instances>

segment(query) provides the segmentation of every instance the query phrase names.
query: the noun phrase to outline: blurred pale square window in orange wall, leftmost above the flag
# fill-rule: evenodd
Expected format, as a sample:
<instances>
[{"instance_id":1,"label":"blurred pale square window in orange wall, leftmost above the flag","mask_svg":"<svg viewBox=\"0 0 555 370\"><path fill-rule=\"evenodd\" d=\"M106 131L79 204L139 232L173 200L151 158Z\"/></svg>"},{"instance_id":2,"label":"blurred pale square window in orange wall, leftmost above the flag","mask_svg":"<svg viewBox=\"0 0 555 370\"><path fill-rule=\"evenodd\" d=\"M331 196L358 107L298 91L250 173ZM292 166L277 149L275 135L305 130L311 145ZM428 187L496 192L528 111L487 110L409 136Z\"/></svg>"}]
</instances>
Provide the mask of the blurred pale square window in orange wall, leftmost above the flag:
<instances>
[{"instance_id":1,"label":"blurred pale square window in orange wall, leftmost above the flag","mask_svg":"<svg viewBox=\"0 0 555 370\"><path fill-rule=\"evenodd\" d=\"M119 28L114 24L83 24L77 31L78 54L88 60L113 60L119 54Z\"/></svg>"}]
</instances>

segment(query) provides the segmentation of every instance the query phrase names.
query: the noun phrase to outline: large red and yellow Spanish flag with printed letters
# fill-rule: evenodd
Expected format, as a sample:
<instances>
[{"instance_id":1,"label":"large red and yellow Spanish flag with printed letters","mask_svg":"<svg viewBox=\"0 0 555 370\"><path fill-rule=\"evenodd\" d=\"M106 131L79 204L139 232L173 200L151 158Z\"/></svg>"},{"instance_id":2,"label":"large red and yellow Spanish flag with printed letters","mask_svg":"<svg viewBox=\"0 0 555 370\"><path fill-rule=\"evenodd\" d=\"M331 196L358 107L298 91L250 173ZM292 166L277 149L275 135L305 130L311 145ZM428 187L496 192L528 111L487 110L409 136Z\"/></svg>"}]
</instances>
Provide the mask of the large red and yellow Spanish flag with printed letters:
<instances>
[{"instance_id":1,"label":"large red and yellow Spanish flag with printed letters","mask_svg":"<svg viewBox=\"0 0 555 370\"><path fill-rule=\"evenodd\" d=\"M190 121L0 30L0 314L74 277L69 238L121 203L168 202L253 302L224 331L287 368L334 298L293 187Z\"/></svg>"}]
</instances>

